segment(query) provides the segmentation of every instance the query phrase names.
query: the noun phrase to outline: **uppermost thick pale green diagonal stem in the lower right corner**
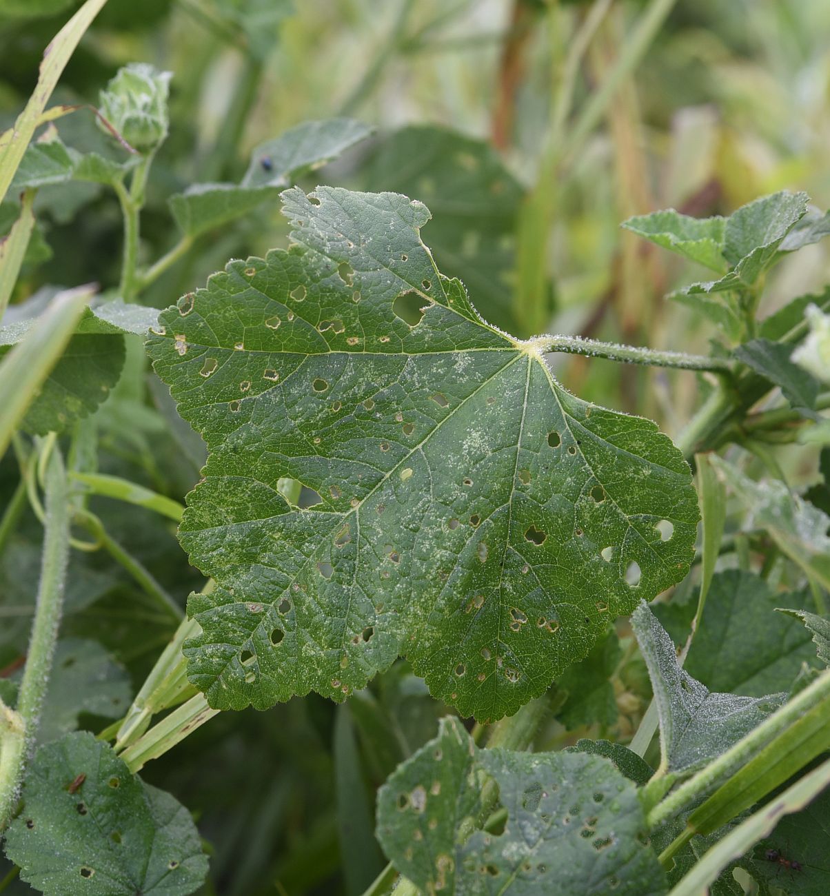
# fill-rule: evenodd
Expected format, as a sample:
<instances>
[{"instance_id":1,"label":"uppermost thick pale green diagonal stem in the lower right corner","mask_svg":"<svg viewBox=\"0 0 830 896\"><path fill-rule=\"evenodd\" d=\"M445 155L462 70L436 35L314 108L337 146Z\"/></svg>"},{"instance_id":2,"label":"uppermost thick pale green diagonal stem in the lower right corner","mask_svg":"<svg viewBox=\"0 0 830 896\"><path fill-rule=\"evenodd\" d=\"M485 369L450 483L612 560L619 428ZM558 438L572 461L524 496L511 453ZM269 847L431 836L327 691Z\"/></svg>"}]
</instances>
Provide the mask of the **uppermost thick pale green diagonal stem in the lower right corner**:
<instances>
[{"instance_id":1,"label":"uppermost thick pale green diagonal stem in the lower right corner","mask_svg":"<svg viewBox=\"0 0 830 896\"><path fill-rule=\"evenodd\" d=\"M705 769L681 784L679 788L654 806L646 819L650 829L675 817L684 807L695 802L705 793L712 790L723 780L744 766L757 752L778 737L787 728L800 719L801 715L822 702L830 695L830 670L824 672L800 694L767 717L760 725L753 728L748 735L742 737L725 753L710 762ZM648 787L648 785L646 785Z\"/></svg>"}]
</instances>

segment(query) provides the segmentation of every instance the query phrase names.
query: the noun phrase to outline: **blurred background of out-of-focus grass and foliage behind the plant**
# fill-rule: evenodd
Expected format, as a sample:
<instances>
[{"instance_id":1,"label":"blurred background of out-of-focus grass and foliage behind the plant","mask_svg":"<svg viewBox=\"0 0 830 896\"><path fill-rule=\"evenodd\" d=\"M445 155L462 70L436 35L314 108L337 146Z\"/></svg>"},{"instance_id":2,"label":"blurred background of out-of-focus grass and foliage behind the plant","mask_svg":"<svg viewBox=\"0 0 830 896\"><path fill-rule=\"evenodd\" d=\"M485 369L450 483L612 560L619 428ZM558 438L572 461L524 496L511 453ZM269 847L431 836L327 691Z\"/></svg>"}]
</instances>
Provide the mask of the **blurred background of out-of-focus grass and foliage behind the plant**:
<instances>
[{"instance_id":1,"label":"blurred background of out-of-focus grass and foliage behind the plant","mask_svg":"<svg viewBox=\"0 0 830 896\"><path fill-rule=\"evenodd\" d=\"M43 48L76 5L0 0L0 131L24 105ZM580 333L705 354L713 323L664 298L700 279L699 268L619 223L668 207L696 217L729 214L785 188L807 192L819 209L830 206L830 4L662 4L668 17L640 53L635 24L660 4L619 0L606 4L572 71L575 34L597 5L109 0L53 99L98 106L99 90L134 61L172 73L169 139L151 169L143 211L144 261L177 246L171 194L197 182L238 183L258 144L309 119L349 116L374 134L304 173L301 185L393 190L426 202L434 220L424 237L437 263L466 282L491 322L523 338ZM636 56L632 73L616 78L612 101L600 101L601 85L629 53ZM58 131L79 149L106 139L83 109L63 118ZM38 230L13 305L52 285L117 288L122 220L111 190L54 186L39 194L36 211ZM11 203L0 206L0 232L14 217ZM229 258L284 246L287 233L279 202L264 202L195 237L139 301L169 306ZM786 298L821 291L828 280L826 246L808 246L770 275L761 316ZM203 444L176 417L134 341L118 401L97 415L99 470L182 501L199 478ZM585 401L652 418L673 437L711 388L705 375L687 371L570 356L556 363ZM776 444L766 466L759 455L745 469L756 477L778 470L803 490L817 481L819 447ZM11 500L17 472L8 452L0 505ZM91 507L177 604L202 587L174 522L105 498L93 498ZM39 539L27 509L0 556L0 676L13 676L25 648ZM736 554L723 565L741 563ZM109 665L91 674L104 676L111 699L126 709L176 619L104 551L74 552L72 574L62 637L97 642L108 653ZM680 586L680 605L691 587ZM682 610L677 616L676 630L670 613L663 622L681 642L687 619ZM757 694L786 690L808 652ZM693 674L705 676L704 667ZM627 624L566 676L559 683L564 702L538 737L540 749L581 737L627 743L651 698ZM94 702L81 710L82 726L96 732L120 715ZM357 894L385 866L374 839L376 788L435 736L446 712L399 660L341 705L309 694L270 711L220 713L148 764L143 778L194 813L211 854L200 892ZM30 891L10 881L6 892Z\"/></svg>"}]
</instances>

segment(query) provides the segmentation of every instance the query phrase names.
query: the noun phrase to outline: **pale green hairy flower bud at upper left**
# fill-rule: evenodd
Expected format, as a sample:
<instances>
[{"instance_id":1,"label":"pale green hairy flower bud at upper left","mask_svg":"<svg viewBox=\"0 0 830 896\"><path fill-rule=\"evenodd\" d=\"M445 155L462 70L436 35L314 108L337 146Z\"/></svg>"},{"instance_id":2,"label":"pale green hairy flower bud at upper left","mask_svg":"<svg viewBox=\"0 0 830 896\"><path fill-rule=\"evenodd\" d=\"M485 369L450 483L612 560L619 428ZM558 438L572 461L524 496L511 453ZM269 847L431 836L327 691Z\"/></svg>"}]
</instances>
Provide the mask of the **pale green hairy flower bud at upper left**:
<instances>
[{"instance_id":1,"label":"pale green hairy flower bud at upper left","mask_svg":"<svg viewBox=\"0 0 830 896\"><path fill-rule=\"evenodd\" d=\"M101 115L139 152L156 149L167 136L170 74L134 63L101 90Z\"/></svg>"}]
</instances>

